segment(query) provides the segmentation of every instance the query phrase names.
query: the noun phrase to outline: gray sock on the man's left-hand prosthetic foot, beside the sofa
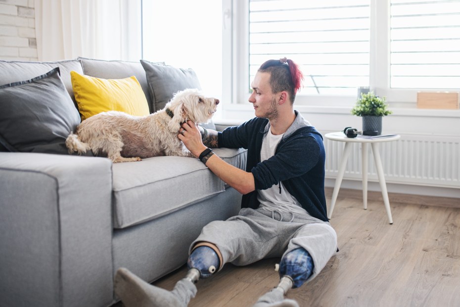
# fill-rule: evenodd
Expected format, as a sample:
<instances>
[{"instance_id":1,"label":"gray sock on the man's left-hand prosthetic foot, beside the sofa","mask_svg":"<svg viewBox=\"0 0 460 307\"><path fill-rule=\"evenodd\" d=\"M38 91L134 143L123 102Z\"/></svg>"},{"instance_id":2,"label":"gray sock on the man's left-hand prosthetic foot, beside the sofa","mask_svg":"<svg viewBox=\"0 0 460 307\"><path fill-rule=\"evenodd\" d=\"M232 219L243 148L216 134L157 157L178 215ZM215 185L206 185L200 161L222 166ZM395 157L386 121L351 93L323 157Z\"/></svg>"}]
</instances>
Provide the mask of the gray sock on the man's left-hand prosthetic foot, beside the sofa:
<instances>
[{"instance_id":1,"label":"gray sock on the man's left-hand prosthetic foot, beside the sofa","mask_svg":"<svg viewBox=\"0 0 460 307\"><path fill-rule=\"evenodd\" d=\"M197 291L191 281L181 279L170 292L150 285L126 268L117 270L114 289L125 307L185 307Z\"/></svg>"}]
</instances>

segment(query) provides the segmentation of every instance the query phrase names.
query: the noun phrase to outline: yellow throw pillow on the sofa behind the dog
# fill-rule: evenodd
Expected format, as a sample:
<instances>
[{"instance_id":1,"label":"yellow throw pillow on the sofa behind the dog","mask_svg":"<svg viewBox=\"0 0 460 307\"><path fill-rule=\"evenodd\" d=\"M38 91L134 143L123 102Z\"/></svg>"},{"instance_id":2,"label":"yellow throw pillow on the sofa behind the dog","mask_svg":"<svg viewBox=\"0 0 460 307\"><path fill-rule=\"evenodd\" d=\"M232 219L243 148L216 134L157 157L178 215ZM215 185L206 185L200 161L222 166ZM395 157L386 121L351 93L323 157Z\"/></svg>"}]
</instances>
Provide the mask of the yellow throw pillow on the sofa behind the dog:
<instances>
[{"instance_id":1,"label":"yellow throw pillow on the sofa behind the dog","mask_svg":"<svg viewBox=\"0 0 460 307\"><path fill-rule=\"evenodd\" d=\"M70 72L75 101L82 121L105 111L122 111L135 116L150 112L145 94L135 76L101 79Z\"/></svg>"}]
</instances>

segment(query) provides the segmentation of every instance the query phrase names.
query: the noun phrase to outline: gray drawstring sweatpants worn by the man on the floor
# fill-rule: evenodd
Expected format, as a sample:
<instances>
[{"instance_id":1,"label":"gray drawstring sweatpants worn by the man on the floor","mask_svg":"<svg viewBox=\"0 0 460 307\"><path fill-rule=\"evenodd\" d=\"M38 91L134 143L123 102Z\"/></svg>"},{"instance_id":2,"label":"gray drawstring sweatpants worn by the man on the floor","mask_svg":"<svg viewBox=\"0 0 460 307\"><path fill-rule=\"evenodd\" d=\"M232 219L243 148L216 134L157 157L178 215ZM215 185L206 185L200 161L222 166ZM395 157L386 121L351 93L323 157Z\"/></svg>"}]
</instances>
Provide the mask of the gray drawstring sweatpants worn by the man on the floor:
<instances>
[{"instance_id":1,"label":"gray drawstring sweatpants worn by the man on the floor","mask_svg":"<svg viewBox=\"0 0 460 307\"><path fill-rule=\"evenodd\" d=\"M297 248L310 253L315 264L315 278L337 251L337 234L328 222L308 214L279 213L243 208L226 221L206 225L198 242L217 246L223 262L247 265L270 257L281 257Z\"/></svg>"}]
</instances>

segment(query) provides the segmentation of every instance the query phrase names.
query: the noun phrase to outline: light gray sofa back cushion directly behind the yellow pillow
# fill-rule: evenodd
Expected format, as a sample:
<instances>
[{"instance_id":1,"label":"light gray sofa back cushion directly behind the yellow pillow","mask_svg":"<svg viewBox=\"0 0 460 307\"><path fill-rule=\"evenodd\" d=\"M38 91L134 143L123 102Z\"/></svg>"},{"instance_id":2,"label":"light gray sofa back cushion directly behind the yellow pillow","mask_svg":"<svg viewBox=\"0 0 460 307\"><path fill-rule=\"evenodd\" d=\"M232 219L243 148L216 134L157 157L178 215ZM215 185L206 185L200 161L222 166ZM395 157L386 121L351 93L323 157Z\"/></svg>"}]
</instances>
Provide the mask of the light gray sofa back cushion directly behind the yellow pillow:
<instances>
[{"instance_id":1,"label":"light gray sofa back cushion directly behind the yellow pillow","mask_svg":"<svg viewBox=\"0 0 460 307\"><path fill-rule=\"evenodd\" d=\"M147 99L150 112L153 112L152 101L148 93L147 78L140 62L106 61L78 57L82 61L85 75L103 79L124 79L135 76Z\"/></svg>"}]
</instances>

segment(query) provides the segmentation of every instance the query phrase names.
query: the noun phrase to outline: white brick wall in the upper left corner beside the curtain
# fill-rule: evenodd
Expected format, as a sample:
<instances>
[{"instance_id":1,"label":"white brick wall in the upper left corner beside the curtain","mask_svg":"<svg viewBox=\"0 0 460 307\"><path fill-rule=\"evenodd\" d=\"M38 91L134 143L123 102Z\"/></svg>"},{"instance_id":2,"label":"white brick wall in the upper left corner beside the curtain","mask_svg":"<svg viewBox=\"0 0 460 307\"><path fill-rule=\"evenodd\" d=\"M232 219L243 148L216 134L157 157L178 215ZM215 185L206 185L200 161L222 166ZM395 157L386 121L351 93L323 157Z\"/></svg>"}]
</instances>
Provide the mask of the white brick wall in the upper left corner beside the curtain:
<instances>
[{"instance_id":1,"label":"white brick wall in the upper left corner beside the curtain","mask_svg":"<svg viewBox=\"0 0 460 307\"><path fill-rule=\"evenodd\" d=\"M34 0L0 0L0 59L37 60Z\"/></svg>"}]
</instances>

